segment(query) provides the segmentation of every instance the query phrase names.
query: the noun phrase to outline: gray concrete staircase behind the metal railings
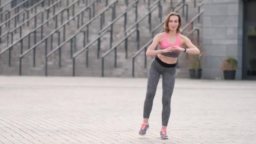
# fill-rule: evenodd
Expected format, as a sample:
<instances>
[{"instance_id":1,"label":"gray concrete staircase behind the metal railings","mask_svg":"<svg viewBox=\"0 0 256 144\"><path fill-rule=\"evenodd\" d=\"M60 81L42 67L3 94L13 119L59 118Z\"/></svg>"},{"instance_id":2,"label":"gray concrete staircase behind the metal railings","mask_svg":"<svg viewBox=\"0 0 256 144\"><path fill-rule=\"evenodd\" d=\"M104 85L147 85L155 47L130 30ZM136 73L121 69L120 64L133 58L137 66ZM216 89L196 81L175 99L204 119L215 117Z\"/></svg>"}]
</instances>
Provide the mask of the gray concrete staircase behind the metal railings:
<instances>
[{"instance_id":1,"label":"gray concrete staircase behind the metal railings","mask_svg":"<svg viewBox=\"0 0 256 144\"><path fill-rule=\"evenodd\" d=\"M109 0L109 3L113 2L114 0ZM178 0L177 0L178 1ZM174 0L174 4L177 2ZM150 1L151 4L154 3L154 0ZM129 0L129 4L132 3L132 1ZM171 7L169 5L168 0L162 0L161 4L163 6L163 19L165 19L165 16L170 13ZM192 19L197 13L197 8L194 8L194 0L187 0L187 3L189 4L189 19ZM96 14L99 13L103 8L105 4L99 3L99 5L95 6ZM126 8L126 4L124 0L119 0L116 5L116 17L119 16L119 14L123 13L123 11ZM135 8L134 8L135 9ZM144 0L139 0L139 6L138 6L138 20L144 16L148 12L147 8L147 0L146 3L144 3ZM76 7L76 11L79 11L79 7ZM182 10L179 11L179 13L182 13ZM107 26L109 22L112 21L112 11L106 11L104 13L105 15L105 24L104 26ZM88 21L88 16L85 19ZM185 25L185 18L182 17L183 26ZM127 16L127 26L126 29L131 27L135 22L135 11L129 11ZM158 18L158 10L155 10L152 12L152 29L156 27L160 23L160 19ZM124 25L124 17L119 19L114 24L114 35L113 35L113 43L112 46L118 43L124 36L125 32L123 29ZM71 35L73 35L76 32L76 26L77 21L73 21L69 24L69 27L67 28L66 33L66 39L68 39ZM103 27L104 27L103 26ZM90 24L90 29L87 31L87 29L83 29L86 32L89 32L89 41L86 41L86 44L90 43L91 41L95 40L96 37L99 35L100 30L100 18L96 19ZM49 24L47 31L51 32L55 29L54 27L54 21ZM48 34L47 31L44 31L44 36ZM140 31L140 40L139 45L140 48L142 45L147 43L152 37L151 32L149 31L149 24L148 24L148 18L144 19L139 23L139 31ZM61 34L62 35L62 34ZM53 49L58 46L58 37L56 37L57 34L53 36ZM37 37L40 37L40 35L37 35ZM62 37L62 36L61 36ZM110 49L110 43L109 43L109 33L105 34L101 38L101 51L100 56L104 54L107 50ZM61 43L64 40L61 38ZM77 51L81 50L83 48L83 42L84 37L82 34L77 35L76 40L73 41L73 45L76 45L76 49L73 50L73 53L76 53ZM32 42L31 42L32 45ZM17 46L19 47L19 46ZM26 47L26 46L25 46ZM56 51L50 58L48 59L48 76L72 76L72 59L70 58L70 48L71 43L65 44L63 47L61 47L61 67L59 67L59 53ZM74 46L73 46L74 48ZM85 67L86 63L86 55L85 51L81 53L76 58L75 63L75 75L76 76L101 76L101 59L97 59L97 42L93 43L88 48L88 67ZM27 49L27 48L26 48ZM50 39L48 40L48 53L51 51L51 44ZM135 33L128 38L128 59L125 59L125 47L124 42L121 43L117 47L117 68L114 68L114 51L112 51L104 61L104 76L106 77L131 77L132 76L132 62L131 62L131 56L136 53L137 51L137 43L136 43L136 35ZM42 43L40 47L37 48L36 52L36 64L35 67L32 66L32 59L33 59L33 52L31 51L22 59L22 75L45 75L45 43ZM13 48L12 50L12 65L11 67L8 67L8 53L4 53L0 56L0 74L1 75L19 75L19 55L20 55L20 48ZM147 68L152 61L152 58L147 58ZM184 60L184 56L181 56L179 58L179 64L181 68L186 68L187 59ZM141 53L136 58L136 67L135 67L135 76L136 77L147 77L147 68L144 69L144 53ZM177 76L184 75L184 77L187 77L187 73L181 74L182 72L179 72L179 69L177 69ZM182 76L183 77L183 76Z\"/></svg>"}]
</instances>

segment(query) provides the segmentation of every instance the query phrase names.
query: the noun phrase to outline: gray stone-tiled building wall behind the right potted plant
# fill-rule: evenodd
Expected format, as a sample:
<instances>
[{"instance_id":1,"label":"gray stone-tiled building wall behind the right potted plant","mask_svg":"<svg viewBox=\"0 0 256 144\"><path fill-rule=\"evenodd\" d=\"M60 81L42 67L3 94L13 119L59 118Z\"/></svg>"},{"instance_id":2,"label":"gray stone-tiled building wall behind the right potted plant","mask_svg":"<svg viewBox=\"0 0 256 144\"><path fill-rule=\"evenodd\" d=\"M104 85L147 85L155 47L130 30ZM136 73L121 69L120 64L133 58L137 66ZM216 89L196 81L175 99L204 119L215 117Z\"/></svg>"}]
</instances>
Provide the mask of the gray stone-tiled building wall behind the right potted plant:
<instances>
[{"instance_id":1,"label":"gray stone-tiled building wall behind the right potted plant","mask_svg":"<svg viewBox=\"0 0 256 144\"><path fill-rule=\"evenodd\" d=\"M238 61L236 79L242 78L243 0L204 0L203 78L223 78L219 69L227 56Z\"/></svg>"}]
</instances>

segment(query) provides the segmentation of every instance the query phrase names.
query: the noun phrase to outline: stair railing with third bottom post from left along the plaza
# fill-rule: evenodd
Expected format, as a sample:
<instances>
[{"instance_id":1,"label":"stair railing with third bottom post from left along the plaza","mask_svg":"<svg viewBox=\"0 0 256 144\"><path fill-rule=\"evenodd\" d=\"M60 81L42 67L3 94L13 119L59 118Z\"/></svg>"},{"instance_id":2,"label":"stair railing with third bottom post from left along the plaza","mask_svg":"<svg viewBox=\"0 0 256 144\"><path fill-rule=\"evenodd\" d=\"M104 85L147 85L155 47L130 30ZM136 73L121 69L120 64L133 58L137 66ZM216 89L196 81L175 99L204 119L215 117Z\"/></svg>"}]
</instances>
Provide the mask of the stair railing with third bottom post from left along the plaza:
<instances>
[{"instance_id":1,"label":"stair railing with third bottom post from left along the plaza","mask_svg":"<svg viewBox=\"0 0 256 144\"><path fill-rule=\"evenodd\" d=\"M106 31L108 27L111 26L111 35L112 35L112 30L113 30L113 24L115 23L115 21L117 21L118 19L120 19L122 16L125 16L125 19L126 19L126 13L128 11L131 10L131 8L134 7L135 5L135 8L136 8L136 14L137 14L137 7L138 7L138 1L139 0L136 0L134 1L133 3L131 3L131 5L128 5L127 8L125 9L125 11L123 13L121 13L119 16L117 16L114 20L112 20L112 22L110 22L106 27L103 28L104 31L100 31L99 32L99 36L96 37L93 41L91 41L90 43L88 43L85 47L83 47L80 51L78 51L74 56L73 56L73 76L75 76L75 58L77 56L79 56L80 53L82 53L83 51L86 51L86 67L88 67L88 48L89 46L91 46L93 43L95 43L96 41L98 41L98 50L97 50L97 55L98 55L98 59L99 59L99 51L100 51L100 38L107 32L109 31ZM136 16L137 17L137 16ZM124 22L124 24L126 24ZM112 37L112 36L111 36ZM110 37L110 40L112 40ZM112 43L111 43L112 44ZM112 46L111 46L112 47Z\"/></svg>"}]
</instances>

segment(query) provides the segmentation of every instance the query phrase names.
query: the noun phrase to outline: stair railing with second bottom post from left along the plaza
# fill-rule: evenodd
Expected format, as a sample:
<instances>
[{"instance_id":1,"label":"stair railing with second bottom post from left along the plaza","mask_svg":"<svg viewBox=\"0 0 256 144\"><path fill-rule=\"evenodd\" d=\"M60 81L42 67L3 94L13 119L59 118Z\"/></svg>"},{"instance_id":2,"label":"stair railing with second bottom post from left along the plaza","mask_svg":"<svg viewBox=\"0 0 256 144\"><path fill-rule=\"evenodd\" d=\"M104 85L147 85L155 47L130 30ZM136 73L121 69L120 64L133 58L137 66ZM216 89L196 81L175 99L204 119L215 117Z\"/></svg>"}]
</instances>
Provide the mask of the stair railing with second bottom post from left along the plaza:
<instances>
[{"instance_id":1,"label":"stair railing with second bottom post from left along the plaza","mask_svg":"<svg viewBox=\"0 0 256 144\"><path fill-rule=\"evenodd\" d=\"M112 19L115 19L115 5L117 4L118 0L113 1L112 3L110 3L106 8L104 8L99 14L97 14L96 16L94 16L90 21L88 21L86 24L84 24L83 26L80 27L80 29L77 30L77 32L75 32L74 35L72 35L71 37L69 37L69 39L67 39L66 41L64 41L63 43L61 43L61 45L59 45L57 48L53 49L53 51L51 51L50 53L48 53L45 56L45 75L48 75L48 57L51 56L53 53L55 53L56 51L59 51L59 67L61 67L61 48L70 42L70 56L72 58L73 56L73 49L76 49L75 47L73 48L73 41L76 39L77 35L79 35L81 32L83 32L83 47L85 47L85 39L86 39L86 32L88 33L88 26L89 24L91 24L94 20L96 20L98 17L101 17L100 19L102 20L102 16L104 16L104 13L109 10L110 8L112 8ZM102 22L102 21L101 21ZM87 27L87 31L83 31L83 29ZM90 46L93 42L89 43L88 45L86 45L87 47Z\"/></svg>"}]
</instances>

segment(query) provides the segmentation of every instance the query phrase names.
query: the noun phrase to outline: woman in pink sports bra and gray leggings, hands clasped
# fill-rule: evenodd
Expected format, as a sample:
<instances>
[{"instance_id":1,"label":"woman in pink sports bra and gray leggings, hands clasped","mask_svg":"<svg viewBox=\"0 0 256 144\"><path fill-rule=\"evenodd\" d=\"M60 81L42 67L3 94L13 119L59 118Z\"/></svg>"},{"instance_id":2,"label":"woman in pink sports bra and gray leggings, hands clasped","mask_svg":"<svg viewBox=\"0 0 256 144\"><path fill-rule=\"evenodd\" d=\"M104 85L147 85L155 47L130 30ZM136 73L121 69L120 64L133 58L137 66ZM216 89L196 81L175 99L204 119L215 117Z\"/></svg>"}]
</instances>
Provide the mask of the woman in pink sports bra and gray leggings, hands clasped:
<instances>
[{"instance_id":1,"label":"woman in pink sports bra and gray leggings, hands clasped","mask_svg":"<svg viewBox=\"0 0 256 144\"><path fill-rule=\"evenodd\" d=\"M163 76L163 96L162 96L162 129L160 131L161 139L168 139L166 128L171 113L171 96L175 83L176 62L180 52L189 54L200 54L199 49L191 41L180 34L181 17L178 13L170 13L165 18L165 32L157 34L149 46L146 56L155 56L151 62L148 73L147 93L144 101L143 124L139 131L140 135L146 134L149 128L149 115L152 110L152 104L155 97L157 84L160 75ZM160 50L155 50L159 44ZM186 45L186 48L182 48Z\"/></svg>"}]
</instances>

